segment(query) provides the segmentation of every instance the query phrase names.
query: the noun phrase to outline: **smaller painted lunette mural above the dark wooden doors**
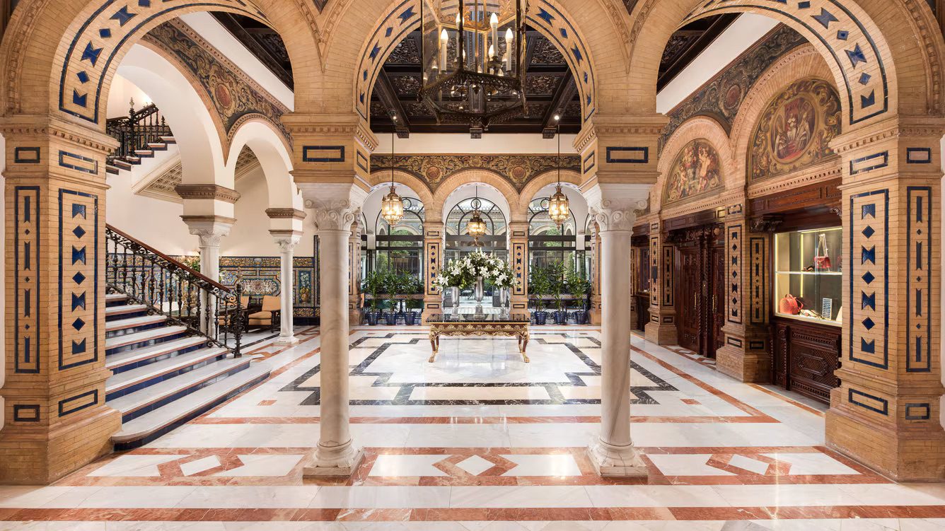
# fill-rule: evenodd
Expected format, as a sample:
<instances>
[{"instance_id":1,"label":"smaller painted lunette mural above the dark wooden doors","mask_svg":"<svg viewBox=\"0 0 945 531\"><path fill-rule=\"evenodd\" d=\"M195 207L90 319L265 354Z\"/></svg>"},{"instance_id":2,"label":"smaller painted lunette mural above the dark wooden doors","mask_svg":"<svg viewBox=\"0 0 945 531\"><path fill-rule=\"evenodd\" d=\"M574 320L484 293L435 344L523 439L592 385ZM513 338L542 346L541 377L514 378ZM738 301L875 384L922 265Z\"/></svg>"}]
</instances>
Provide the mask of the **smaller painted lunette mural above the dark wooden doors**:
<instances>
[{"instance_id":1,"label":"smaller painted lunette mural above the dark wooden doors","mask_svg":"<svg viewBox=\"0 0 945 531\"><path fill-rule=\"evenodd\" d=\"M722 187L722 165L708 140L697 139L679 150L669 170L663 203L701 196Z\"/></svg>"}]
</instances>

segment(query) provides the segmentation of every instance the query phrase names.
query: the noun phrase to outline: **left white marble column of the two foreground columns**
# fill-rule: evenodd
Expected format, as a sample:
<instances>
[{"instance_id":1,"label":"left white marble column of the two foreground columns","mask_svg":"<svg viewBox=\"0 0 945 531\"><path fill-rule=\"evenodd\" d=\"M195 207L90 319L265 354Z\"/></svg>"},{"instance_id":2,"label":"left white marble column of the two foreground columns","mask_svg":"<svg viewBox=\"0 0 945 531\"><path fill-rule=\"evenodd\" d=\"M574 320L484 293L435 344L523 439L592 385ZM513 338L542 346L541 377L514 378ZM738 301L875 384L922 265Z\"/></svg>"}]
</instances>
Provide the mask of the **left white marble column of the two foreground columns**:
<instances>
[{"instance_id":1,"label":"left white marble column of the two foreground columns","mask_svg":"<svg viewBox=\"0 0 945 531\"><path fill-rule=\"evenodd\" d=\"M315 210L321 291L321 385L318 447L306 476L351 475L364 458L349 425L349 241L367 192L351 184L300 185Z\"/></svg>"}]
</instances>

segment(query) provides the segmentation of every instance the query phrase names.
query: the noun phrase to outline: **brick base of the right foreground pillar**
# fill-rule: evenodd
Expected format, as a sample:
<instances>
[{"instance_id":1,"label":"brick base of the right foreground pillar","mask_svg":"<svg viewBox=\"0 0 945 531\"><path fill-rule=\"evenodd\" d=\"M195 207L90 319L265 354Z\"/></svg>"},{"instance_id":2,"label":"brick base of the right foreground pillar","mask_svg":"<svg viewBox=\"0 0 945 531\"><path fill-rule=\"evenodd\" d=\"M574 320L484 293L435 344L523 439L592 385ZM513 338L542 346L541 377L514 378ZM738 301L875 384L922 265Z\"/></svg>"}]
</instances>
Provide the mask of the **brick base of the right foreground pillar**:
<instances>
[{"instance_id":1,"label":"brick base of the right foreground pillar","mask_svg":"<svg viewBox=\"0 0 945 531\"><path fill-rule=\"evenodd\" d=\"M945 479L945 432L937 417L922 430L897 430L894 424L870 422L842 404L837 406L841 391L846 389L833 389L825 419L828 448L897 482Z\"/></svg>"}]
</instances>

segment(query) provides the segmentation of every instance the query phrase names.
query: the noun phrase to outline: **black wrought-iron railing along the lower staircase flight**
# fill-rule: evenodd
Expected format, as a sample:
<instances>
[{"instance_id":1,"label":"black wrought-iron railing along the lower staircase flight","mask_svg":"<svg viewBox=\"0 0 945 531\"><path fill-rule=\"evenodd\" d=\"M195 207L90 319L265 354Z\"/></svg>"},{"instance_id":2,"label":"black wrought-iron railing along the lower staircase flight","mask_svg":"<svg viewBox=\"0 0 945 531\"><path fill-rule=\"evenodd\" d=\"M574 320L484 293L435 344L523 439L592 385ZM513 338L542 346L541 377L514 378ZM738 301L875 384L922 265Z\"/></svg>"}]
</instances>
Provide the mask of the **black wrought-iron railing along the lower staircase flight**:
<instances>
[{"instance_id":1,"label":"black wrought-iron railing along the lower staircase flight","mask_svg":"<svg viewBox=\"0 0 945 531\"><path fill-rule=\"evenodd\" d=\"M241 355L247 314L239 283L230 289L111 225L105 232L110 292L125 294L149 313Z\"/></svg>"}]
</instances>

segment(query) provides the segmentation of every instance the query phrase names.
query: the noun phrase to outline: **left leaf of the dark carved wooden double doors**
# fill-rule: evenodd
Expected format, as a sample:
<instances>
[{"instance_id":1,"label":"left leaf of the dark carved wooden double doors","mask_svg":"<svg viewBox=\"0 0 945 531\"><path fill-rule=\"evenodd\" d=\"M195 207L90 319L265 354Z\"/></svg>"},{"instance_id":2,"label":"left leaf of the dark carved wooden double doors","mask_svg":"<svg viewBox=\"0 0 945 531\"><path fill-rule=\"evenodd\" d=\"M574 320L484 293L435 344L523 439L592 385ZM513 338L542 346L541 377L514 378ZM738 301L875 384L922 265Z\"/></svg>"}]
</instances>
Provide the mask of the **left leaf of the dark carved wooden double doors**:
<instances>
[{"instance_id":1,"label":"left leaf of the dark carved wooden double doors","mask_svg":"<svg viewBox=\"0 0 945 531\"><path fill-rule=\"evenodd\" d=\"M676 329L679 346L690 351L702 351L700 309L702 297L701 249L681 247L676 261Z\"/></svg>"}]
</instances>

